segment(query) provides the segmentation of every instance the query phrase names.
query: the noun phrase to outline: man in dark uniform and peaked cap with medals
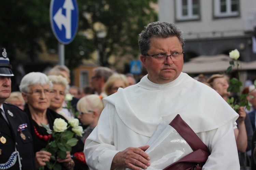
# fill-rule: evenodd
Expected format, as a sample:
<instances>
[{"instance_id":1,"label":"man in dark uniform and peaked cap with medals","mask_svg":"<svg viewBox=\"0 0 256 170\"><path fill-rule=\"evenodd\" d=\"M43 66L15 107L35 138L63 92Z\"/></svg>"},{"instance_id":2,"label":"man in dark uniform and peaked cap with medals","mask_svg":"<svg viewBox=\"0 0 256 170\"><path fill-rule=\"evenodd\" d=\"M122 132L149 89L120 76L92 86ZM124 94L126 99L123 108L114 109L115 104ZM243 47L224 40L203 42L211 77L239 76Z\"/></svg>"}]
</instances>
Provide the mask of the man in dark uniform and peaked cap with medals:
<instances>
[{"instance_id":1,"label":"man in dark uniform and peaked cap with medals","mask_svg":"<svg viewBox=\"0 0 256 170\"><path fill-rule=\"evenodd\" d=\"M0 170L35 169L28 117L17 106L4 103L14 76L5 48L0 50Z\"/></svg>"}]
</instances>

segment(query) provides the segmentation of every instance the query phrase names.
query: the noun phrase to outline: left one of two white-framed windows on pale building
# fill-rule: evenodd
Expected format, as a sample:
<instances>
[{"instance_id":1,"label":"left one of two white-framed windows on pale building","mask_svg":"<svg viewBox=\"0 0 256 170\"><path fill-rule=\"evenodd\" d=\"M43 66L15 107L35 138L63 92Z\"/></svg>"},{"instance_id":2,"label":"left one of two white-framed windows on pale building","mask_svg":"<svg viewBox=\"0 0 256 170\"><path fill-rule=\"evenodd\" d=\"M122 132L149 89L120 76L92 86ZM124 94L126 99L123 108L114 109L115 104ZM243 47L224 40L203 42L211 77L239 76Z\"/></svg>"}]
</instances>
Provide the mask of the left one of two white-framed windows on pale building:
<instances>
[{"instance_id":1,"label":"left one of two white-framed windows on pale building","mask_svg":"<svg viewBox=\"0 0 256 170\"><path fill-rule=\"evenodd\" d=\"M199 19L199 0L176 0L178 21Z\"/></svg>"}]
</instances>

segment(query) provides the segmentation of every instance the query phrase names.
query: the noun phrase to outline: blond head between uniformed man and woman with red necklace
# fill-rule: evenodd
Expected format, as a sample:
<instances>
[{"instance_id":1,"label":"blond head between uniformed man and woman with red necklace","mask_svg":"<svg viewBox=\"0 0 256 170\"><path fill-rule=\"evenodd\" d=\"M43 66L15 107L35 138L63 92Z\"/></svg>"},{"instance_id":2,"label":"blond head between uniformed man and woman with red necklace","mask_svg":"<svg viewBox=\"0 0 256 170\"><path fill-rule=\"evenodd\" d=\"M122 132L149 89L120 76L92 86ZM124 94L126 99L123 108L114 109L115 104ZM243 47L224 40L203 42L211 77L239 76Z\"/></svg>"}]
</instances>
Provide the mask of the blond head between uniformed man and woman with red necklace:
<instances>
[{"instance_id":1,"label":"blond head between uniformed man and woman with red necklace","mask_svg":"<svg viewBox=\"0 0 256 170\"><path fill-rule=\"evenodd\" d=\"M19 91L11 92L11 95L9 98L7 98L4 102L11 103L20 109L24 109L25 101L22 97L22 93Z\"/></svg>"}]
</instances>

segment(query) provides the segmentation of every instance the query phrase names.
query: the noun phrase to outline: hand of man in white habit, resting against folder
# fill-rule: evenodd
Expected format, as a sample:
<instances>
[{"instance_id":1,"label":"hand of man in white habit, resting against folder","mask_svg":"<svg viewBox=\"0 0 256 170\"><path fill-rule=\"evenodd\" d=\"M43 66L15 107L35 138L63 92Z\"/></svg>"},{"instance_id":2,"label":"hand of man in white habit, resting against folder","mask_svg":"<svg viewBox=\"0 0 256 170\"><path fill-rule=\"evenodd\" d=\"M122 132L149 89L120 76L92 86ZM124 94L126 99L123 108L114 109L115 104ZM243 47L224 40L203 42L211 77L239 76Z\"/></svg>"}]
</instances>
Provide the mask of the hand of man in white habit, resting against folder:
<instances>
[{"instance_id":1,"label":"hand of man in white habit, resting against folder","mask_svg":"<svg viewBox=\"0 0 256 170\"><path fill-rule=\"evenodd\" d=\"M139 148L129 147L122 152L118 152L112 161L111 169L123 167L132 170L147 169L150 166L150 157L144 151L147 150L149 145Z\"/></svg>"}]
</instances>

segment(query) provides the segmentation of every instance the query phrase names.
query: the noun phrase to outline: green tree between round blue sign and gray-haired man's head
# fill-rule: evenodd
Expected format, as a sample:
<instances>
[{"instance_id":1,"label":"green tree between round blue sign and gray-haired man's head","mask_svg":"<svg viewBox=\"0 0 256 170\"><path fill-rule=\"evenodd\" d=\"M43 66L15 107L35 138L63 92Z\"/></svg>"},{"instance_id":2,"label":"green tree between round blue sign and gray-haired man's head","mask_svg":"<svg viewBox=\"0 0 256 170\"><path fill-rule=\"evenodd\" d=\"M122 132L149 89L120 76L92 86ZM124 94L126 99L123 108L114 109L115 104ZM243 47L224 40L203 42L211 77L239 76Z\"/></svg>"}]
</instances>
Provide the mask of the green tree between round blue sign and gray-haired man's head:
<instances>
[{"instance_id":1,"label":"green tree between round blue sign and gray-haired man's head","mask_svg":"<svg viewBox=\"0 0 256 170\"><path fill-rule=\"evenodd\" d=\"M156 0L87 0L84 13L90 19L93 41L99 50L99 62L108 66L111 55L136 57L139 53L138 37L144 27L157 20L150 3ZM104 38L97 37L105 32Z\"/></svg>"}]
</instances>

